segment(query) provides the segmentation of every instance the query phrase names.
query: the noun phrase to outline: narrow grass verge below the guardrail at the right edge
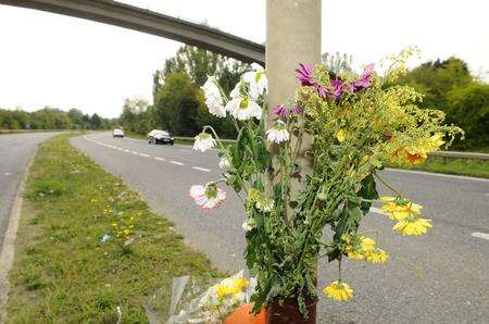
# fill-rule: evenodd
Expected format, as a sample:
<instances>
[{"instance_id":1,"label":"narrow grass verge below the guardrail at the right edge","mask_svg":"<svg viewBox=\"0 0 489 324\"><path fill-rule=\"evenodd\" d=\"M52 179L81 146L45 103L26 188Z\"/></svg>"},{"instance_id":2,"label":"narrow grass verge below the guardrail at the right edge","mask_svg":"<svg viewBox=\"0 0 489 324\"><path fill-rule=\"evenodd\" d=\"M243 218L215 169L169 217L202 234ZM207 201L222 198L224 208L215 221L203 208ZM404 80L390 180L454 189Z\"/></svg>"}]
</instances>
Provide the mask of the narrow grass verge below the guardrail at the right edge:
<instances>
[{"instance_id":1,"label":"narrow grass verge below the guardrail at the right edge","mask_svg":"<svg viewBox=\"0 0 489 324\"><path fill-rule=\"evenodd\" d=\"M489 178L489 161L476 159L456 159L430 157L421 165L405 166L392 165L392 167L408 170L424 170L428 172L468 175Z\"/></svg>"}]
</instances>

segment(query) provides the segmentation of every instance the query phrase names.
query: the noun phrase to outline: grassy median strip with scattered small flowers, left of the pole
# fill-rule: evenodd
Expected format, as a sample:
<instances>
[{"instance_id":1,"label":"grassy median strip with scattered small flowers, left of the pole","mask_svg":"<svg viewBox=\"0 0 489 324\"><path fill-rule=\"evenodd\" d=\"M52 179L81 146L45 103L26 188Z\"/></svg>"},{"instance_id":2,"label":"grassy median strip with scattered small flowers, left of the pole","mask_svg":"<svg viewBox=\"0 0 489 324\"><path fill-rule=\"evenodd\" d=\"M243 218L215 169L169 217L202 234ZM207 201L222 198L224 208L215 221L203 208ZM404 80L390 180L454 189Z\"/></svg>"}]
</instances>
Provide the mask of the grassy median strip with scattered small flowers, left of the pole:
<instances>
[{"instance_id":1,"label":"grassy median strip with scattered small flowers, left of the pole","mask_svg":"<svg viewBox=\"0 0 489 324\"><path fill-rule=\"evenodd\" d=\"M171 222L71 147L68 137L45 142L30 169L8 323L117 323L117 307L122 323L147 323L145 304L160 291L164 312L174 276L220 275ZM121 216L135 216L129 249L113 238L101 242Z\"/></svg>"}]
</instances>

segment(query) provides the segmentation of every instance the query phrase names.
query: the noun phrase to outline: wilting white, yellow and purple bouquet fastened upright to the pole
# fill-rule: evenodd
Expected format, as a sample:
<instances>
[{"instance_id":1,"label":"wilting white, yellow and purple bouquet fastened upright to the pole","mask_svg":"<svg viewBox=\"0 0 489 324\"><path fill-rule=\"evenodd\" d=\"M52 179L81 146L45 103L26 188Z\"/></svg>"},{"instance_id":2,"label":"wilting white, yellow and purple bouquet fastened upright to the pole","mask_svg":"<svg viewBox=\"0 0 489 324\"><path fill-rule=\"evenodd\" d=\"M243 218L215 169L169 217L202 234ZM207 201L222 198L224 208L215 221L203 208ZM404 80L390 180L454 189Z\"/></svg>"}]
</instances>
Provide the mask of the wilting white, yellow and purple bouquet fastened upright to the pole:
<instances>
[{"instance_id":1,"label":"wilting white, yellow and purple bouquet fastened upright to the pole","mask_svg":"<svg viewBox=\"0 0 489 324\"><path fill-rule=\"evenodd\" d=\"M266 107L267 78L258 64L241 76L229 97L212 76L202 87L209 112L230 115L238 137L224 146L210 126L196 137L196 150L218 147L223 178L192 186L190 196L201 208L216 208L226 199L218 183L226 183L241 198L247 213L244 258L258 279L255 312L296 299L305 314L305 301L317 299L321 257L339 263L338 279L324 294L349 300L353 290L341 278L341 260L378 264L389 257L360 229L375 200L394 222L394 232L422 235L431 228L422 205L378 173L392 162L421 163L462 133L443 124L441 111L419 109L421 94L396 84L415 52L409 48L389 57L383 75L373 64L361 75L300 64L293 97L271 108L272 114ZM378 197L376 179L392 190L392 197ZM331 237L324 237L325 227L333 230Z\"/></svg>"}]
</instances>

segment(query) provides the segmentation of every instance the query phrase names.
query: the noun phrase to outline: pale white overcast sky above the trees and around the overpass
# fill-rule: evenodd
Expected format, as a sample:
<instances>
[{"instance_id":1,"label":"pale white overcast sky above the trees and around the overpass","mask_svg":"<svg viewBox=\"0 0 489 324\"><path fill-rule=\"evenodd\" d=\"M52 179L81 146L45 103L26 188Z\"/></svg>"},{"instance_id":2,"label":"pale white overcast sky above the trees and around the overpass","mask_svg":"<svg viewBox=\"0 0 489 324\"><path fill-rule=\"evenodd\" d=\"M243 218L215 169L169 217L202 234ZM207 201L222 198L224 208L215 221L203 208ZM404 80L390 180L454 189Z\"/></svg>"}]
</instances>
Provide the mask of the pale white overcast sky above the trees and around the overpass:
<instances>
[{"instance_id":1,"label":"pale white overcast sky above the trees and around the overpass","mask_svg":"<svg viewBox=\"0 0 489 324\"><path fill-rule=\"evenodd\" d=\"M124 0L265 41L265 0ZM465 60L489 71L489 1L323 0L322 49L378 62L408 46L422 60ZM118 116L125 98L151 102L152 74L179 42L41 11L0 5L0 108L45 105ZM414 65L413 65L414 66Z\"/></svg>"}]
</instances>

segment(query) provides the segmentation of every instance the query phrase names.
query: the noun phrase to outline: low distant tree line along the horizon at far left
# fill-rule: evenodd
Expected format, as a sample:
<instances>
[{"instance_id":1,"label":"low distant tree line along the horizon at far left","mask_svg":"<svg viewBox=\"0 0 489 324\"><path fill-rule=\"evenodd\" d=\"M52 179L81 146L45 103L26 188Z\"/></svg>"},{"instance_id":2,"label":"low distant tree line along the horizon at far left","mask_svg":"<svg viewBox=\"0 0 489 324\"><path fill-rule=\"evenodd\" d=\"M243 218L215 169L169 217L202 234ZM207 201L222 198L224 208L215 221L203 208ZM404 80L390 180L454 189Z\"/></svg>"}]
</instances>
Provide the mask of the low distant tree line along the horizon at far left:
<instances>
[{"instance_id":1,"label":"low distant tree line along the horizon at far left","mask_svg":"<svg viewBox=\"0 0 489 324\"><path fill-rule=\"evenodd\" d=\"M116 119L84 114L78 109L67 112L49 107L34 112L0 109L0 129L106 129L116 123Z\"/></svg>"}]
</instances>

